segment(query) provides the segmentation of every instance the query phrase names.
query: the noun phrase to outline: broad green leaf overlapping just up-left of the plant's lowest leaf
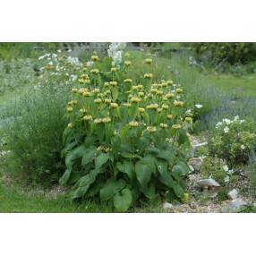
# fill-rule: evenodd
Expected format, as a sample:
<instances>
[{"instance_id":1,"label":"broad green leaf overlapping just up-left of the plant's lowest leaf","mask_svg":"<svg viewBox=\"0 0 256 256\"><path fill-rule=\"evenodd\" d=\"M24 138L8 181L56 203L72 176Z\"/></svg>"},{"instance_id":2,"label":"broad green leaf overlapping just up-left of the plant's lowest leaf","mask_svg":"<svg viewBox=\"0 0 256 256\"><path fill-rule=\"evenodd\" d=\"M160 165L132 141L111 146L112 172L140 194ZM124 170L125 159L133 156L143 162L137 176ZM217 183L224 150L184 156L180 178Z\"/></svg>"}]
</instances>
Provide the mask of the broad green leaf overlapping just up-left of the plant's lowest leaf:
<instances>
[{"instance_id":1,"label":"broad green leaf overlapping just up-left of the plant's lowest leaf","mask_svg":"<svg viewBox=\"0 0 256 256\"><path fill-rule=\"evenodd\" d=\"M102 187L102 189L99 192L100 200L101 201L107 201L111 199L115 193L120 192L122 189L124 189L125 181L123 179L120 179L116 181L114 178L110 178L107 180L107 183Z\"/></svg>"}]
</instances>

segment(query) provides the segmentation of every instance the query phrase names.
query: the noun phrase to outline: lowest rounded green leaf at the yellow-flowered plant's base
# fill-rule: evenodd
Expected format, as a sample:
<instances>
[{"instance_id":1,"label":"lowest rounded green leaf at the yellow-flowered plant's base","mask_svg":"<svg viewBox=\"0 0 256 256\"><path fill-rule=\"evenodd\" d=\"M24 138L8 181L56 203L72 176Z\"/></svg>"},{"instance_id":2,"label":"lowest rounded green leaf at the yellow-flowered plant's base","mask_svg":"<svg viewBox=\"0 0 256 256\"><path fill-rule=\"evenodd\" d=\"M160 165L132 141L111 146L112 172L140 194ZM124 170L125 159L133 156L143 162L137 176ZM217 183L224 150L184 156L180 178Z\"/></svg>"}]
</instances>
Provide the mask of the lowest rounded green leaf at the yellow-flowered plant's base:
<instances>
[{"instance_id":1,"label":"lowest rounded green leaf at the yellow-flowered plant's base","mask_svg":"<svg viewBox=\"0 0 256 256\"><path fill-rule=\"evenodd\" d=\"M117 211L126 211L132 205L132 192L126 188L122 192L116 193L113 202Z\"/></svg>"}]
</instances>

